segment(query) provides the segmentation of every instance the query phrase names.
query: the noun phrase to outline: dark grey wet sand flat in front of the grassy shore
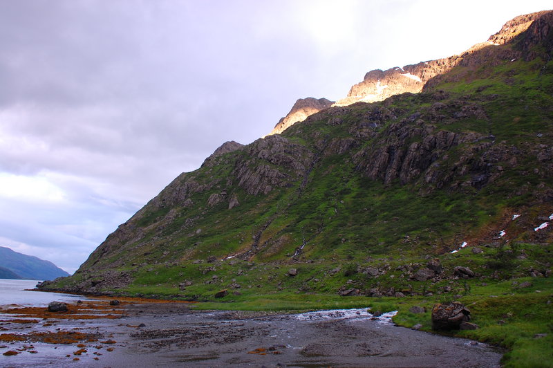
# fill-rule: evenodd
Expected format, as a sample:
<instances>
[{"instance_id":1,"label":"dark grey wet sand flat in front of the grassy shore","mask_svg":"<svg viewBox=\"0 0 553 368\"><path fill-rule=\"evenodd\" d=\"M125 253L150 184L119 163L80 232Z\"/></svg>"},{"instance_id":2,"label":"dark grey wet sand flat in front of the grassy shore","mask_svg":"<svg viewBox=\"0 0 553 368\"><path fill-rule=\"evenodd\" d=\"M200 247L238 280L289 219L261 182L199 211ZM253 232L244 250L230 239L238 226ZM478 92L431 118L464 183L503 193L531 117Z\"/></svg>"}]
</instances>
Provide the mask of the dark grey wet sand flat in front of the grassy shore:
<instances>
[{"instance_id":1,"label":"dark grey wet sand flat in front of the grassy shore","mask_svg":"<svg viewBox=\"0 0 553 368\"><path fill-rule=\"evenodd\" d=\"M500 367L503 353L487 344L371 320L359 312L267 315L194 311L182 303L96 304L101 304L96 318L85 320L78 314L94 313L46 320L37 319L36 313L33 318L1 315L0 353L18 354L0 355L0 366ZM21 319L37 322L13 322ZM76 338L61 344L33 337L45 332ZM9 334L26 339L9 341Z\"/></svg>"}]
</instances>

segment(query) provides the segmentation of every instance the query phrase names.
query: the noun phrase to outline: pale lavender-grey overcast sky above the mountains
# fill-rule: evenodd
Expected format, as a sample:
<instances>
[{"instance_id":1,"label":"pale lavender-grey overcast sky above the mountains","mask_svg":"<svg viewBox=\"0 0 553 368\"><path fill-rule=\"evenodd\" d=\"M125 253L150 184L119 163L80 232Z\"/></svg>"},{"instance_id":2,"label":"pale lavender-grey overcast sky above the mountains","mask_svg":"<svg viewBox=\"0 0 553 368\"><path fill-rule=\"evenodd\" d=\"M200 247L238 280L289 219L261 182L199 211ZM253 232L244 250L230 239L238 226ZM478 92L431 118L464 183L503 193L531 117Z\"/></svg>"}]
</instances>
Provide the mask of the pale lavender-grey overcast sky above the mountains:
<instances>
[{"instance_id":1,"label":"pale lavender-grey overcast sky above the mountains","mask_svg":"<svg viewBox=\"0 0 553 368\"><path fill-rule=\"evenodd\" d=\"M454 4L454 5L449 5ZM298 98L461 53L550 1L0 0L0 246L73 273Z\"/></svg>"}]
</instances>

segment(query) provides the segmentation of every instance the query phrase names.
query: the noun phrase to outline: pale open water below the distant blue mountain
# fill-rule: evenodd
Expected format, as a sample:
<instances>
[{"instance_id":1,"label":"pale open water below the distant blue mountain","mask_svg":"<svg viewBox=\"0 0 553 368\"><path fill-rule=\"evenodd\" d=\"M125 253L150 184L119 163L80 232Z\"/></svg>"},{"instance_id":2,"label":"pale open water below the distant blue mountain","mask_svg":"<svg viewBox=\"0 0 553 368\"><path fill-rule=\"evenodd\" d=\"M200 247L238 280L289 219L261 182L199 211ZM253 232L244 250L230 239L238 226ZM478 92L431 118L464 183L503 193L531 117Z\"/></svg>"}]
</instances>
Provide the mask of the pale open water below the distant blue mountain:
<instances>
[{"instance_id":1,"label":"pale open water below the distant blue mountain","mask_svg":"<svg viewBox=\"0 0 553 368\"><path fill-rule=\"evenodd\" d=\"M35 288L37 280L12 280L0 279L0 306L7 304L18 304L19 306L47 306L48 303L57 300L58 302L77 302L87 300L82 295L47 293L45 291L28 291L25 289Z\"/></svg>"}]
</instances>

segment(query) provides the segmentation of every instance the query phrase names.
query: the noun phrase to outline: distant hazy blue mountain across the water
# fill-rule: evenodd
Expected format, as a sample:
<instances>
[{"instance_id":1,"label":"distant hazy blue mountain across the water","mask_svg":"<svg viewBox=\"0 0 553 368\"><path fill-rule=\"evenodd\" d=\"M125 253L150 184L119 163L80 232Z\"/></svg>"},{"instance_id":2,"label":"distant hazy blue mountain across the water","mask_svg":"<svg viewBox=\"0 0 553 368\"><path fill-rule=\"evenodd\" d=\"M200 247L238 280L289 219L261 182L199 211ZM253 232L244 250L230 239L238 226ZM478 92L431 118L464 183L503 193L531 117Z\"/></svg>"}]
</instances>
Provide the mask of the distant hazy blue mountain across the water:
<instances>
[{"instance_id":1,"label":"distant hazy blue mountain across the water","mask_svg":"<svg viewBox=\"0 0 553 368\"><path fill-rule=\"evenodd\" d=\"M50 261L0 247L0 279L51 280L68 275Z\"/></svg>"}]
</instances>

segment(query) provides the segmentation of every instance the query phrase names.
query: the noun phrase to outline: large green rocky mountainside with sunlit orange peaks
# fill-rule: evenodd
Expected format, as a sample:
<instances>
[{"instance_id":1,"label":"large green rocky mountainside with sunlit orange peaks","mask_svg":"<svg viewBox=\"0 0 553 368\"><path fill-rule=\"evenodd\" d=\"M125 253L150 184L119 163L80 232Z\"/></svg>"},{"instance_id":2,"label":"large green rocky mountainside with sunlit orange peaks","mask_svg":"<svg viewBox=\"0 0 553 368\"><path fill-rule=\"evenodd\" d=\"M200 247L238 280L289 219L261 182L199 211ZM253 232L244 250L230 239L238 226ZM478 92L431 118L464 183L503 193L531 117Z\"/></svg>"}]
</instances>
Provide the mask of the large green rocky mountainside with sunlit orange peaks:
<instances>
[{"instance_id":1,"label":"large green rocky mountainside with sunlit orange peaks","mask_svg":"<svg viewBox=\"0 0 553 368\"><path fill-rule=\"evenodd\" d=\"M416 296L469 290L459 266L550 275L552 24L516 17L462 55L371 71L347 104L298 100L288 116L319 111L225 143L42 288Z\"/></svg>"}]
</instances>

